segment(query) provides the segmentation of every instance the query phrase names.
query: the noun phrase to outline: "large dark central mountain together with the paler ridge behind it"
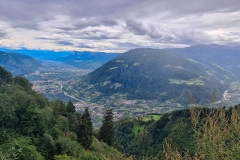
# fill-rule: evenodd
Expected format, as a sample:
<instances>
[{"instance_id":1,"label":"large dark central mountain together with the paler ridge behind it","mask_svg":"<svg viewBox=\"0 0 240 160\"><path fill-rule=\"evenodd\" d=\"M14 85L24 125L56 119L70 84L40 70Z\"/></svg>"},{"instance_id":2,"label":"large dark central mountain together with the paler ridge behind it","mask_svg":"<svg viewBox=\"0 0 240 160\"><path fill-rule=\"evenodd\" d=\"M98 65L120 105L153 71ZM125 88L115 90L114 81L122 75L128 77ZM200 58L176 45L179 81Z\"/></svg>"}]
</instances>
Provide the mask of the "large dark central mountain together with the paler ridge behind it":
<instances>
[{"instance_id":1,"label":"large dark central mountain together with the paler ridge behind it","mask_svg":"<svg viewBox=\"0 0 240 160\"><path fill-rule=\"evenodd\" d=\"M85 81L102 94L127 94L129 99L172 100L189 104L190 93L201 104L240 76L240 50L220 45L179 49L133 49L120 54Z\"/></svg>"}]
</instances>

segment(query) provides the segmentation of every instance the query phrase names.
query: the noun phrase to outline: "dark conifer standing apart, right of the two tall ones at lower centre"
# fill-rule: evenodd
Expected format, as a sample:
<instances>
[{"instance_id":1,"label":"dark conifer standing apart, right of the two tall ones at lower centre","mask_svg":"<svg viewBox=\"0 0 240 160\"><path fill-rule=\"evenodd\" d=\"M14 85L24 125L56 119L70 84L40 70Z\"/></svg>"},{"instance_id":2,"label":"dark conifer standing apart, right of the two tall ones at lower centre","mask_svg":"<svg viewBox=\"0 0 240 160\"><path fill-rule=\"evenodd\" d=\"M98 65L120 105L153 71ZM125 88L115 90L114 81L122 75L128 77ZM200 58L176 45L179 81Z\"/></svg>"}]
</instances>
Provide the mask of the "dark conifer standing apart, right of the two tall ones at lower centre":
<instances>
[{"instance_id":1,"label":"dark conifer standing apart, right of the two tall ones at lower centre","mask_svg":"<svg viewBox=\"0 0 240 160\"><path fill-rule=\"evenodd\" d=\"M99 130L99 140L112 145L113 139L113 112L111 109L107 109L102 126Z\"/></svg>"}]
</instances>

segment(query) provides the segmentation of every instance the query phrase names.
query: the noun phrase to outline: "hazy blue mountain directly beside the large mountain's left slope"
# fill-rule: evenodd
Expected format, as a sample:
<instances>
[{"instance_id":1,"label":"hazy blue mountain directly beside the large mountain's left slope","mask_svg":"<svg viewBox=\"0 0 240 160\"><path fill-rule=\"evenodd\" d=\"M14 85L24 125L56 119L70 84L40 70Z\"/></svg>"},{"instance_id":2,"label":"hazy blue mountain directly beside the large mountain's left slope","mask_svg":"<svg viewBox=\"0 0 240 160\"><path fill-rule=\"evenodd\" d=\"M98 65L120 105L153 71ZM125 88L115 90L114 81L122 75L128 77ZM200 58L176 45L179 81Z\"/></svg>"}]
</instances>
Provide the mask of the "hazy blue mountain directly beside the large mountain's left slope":
<instances>
[{"instance_id":1,"label":"hazy blue mountain directly beside the large mountain's left slope","mask_svg":"<svg viewBox=\"0 0 240 160\"><path fill-rule=\"evenodd\" d=\"M58 61L65 62L66 64L73 65L78 68L94 70L117 55L117 53L74 51L69 56L59 58Z\"/></svg>"}]
</instances>

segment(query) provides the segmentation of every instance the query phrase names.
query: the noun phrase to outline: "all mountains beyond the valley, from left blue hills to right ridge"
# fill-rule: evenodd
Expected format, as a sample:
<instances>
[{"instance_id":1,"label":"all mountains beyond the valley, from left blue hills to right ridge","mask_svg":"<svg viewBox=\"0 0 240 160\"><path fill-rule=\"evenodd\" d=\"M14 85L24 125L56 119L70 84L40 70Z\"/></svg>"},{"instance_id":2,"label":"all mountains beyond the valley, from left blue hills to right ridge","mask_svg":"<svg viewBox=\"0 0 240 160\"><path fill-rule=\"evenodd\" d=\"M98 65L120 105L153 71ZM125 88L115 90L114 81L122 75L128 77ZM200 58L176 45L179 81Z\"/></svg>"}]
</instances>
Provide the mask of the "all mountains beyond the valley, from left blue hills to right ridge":
<instances>
[{"instance_id":1,"label":"all mountains beyond the valley, from left blue hills to right ridge","mask_svg":"<svg viewBox=\"0 0 240 160\"><path fill-rule=\"evenodd\" d=\"M195 45L187 48L138 48L123 54L104 52L54 52L22 49L39 60L60 61L77 68L94 70L85 78L101 96L126 94L129 99L171 100L188 104L190 93L198 103L217 99L240 77L240 47ZM30 56L0 52L0 65L14 75L28 74L41 67ZM99 68L98 68L99 67Z\"/></svg>"}]
</instances>

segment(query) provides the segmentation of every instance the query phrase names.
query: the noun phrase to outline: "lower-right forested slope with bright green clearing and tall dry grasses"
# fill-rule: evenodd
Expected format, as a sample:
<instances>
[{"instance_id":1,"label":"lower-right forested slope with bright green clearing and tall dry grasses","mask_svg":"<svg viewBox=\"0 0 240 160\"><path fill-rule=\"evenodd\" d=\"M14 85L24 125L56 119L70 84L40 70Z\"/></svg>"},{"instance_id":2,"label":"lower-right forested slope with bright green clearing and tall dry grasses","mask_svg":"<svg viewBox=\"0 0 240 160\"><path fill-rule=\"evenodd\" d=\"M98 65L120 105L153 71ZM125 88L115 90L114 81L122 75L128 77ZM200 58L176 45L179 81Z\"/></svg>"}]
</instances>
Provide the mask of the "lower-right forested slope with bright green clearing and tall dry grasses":
<instances>
[{"instance_id":1,"label":"lower-right forested slope with bright green clearing and tall dry grasses","mask_svg":"<svg viewBox=\"0 0 240 160\"><path fill-rule=\"evenodd\" d=\"M237 105L124 119L115 124L114 143L137 159L239 159L239 115Z\"/></svg>"}]
</instances>

